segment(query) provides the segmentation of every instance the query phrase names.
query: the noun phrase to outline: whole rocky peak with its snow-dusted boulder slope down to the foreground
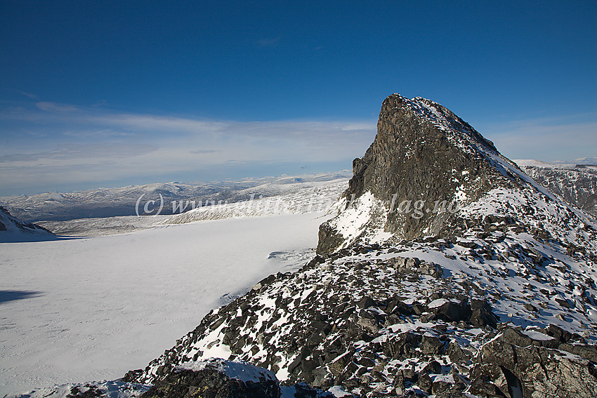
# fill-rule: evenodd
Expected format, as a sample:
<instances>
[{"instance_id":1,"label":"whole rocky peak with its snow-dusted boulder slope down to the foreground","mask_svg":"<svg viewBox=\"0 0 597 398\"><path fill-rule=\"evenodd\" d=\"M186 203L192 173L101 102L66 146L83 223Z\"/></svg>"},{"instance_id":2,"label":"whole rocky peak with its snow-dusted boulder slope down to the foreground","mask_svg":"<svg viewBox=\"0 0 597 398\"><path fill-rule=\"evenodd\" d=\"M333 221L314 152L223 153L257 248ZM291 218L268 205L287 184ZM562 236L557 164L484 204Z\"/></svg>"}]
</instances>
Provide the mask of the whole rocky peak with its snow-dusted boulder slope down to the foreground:
<instances>
[{"instance_id":1,"label":"whole rocky peak with its snow-dusted boulder slope down to the foreground","mask_svg":"<svg viewBox=\"0 0 597 398\"><path fill-rule=\"evenodd\" d=\"M206 315L131 380L223 356L367 398L594 395L589 215L423 98L386 98L353 173L320 256Z\"/></svg>"}]
</instances>

